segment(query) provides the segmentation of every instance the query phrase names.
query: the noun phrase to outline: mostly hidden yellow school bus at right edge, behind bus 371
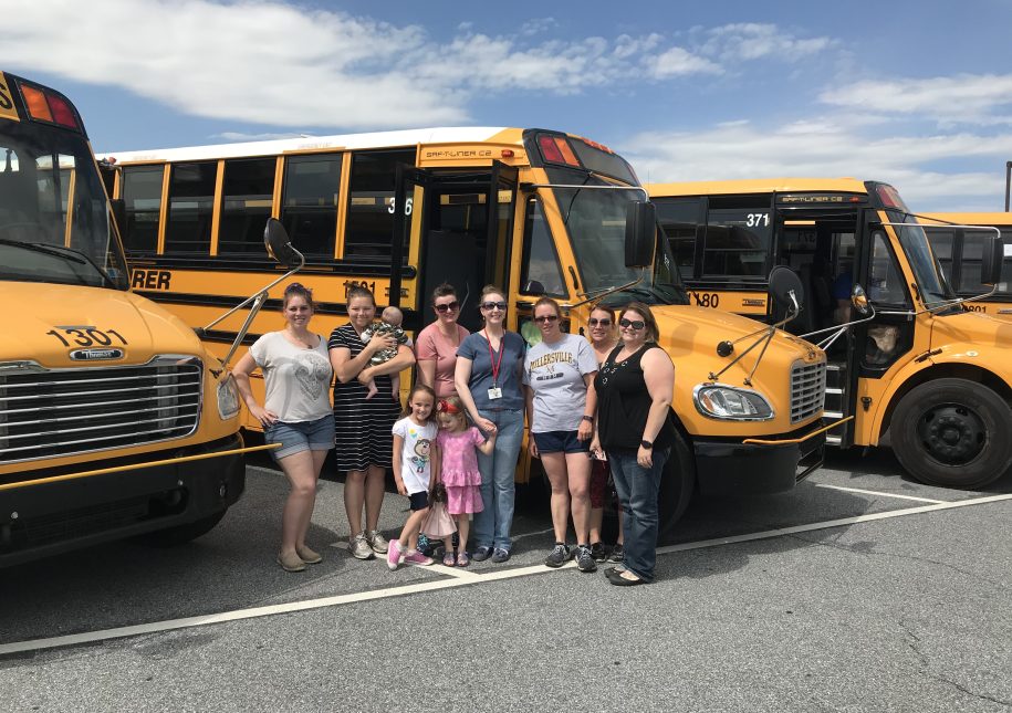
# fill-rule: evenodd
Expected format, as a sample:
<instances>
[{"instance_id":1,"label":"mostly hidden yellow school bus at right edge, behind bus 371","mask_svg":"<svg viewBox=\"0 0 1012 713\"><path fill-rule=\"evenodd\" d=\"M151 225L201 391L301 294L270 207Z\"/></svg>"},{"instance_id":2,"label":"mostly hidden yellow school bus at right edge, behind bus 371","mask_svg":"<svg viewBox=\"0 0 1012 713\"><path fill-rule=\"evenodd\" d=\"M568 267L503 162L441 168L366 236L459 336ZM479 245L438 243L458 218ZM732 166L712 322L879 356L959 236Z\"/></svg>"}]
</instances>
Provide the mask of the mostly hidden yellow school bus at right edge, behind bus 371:
<instances>
[{"instance_id":1,"label":"mostly hidden yellow school bus at right edge, behind bus 371","mask_svg":"<svg viewBox=\"0 0 1012 713\"><path fill-rule=\"evenodd\" d=\"M921 213L931 249L952 291L961 297L988 292L980 284L980 260L985 239L1001 233L1004 260L994 293L967 304L968 310L1012 319L1012 213Z\"/></svg>"}]
</instances>

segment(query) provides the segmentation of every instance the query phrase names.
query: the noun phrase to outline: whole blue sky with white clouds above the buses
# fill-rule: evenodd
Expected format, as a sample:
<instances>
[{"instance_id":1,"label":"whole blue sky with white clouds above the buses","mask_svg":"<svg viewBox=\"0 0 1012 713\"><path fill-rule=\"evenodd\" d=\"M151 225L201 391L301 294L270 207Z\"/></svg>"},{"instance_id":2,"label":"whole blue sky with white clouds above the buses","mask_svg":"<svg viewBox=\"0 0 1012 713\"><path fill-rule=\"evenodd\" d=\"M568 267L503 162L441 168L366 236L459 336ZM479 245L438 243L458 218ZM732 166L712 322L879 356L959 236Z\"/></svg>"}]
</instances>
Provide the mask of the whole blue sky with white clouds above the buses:
<instances>
[{"instance_id":1,"label":"whole blue sky with white clouds above the buses","mask_svg":"<svg viewBox=\"0 0 1012 713\"><path fill-rule=\"evenodd\" d=\"M1001 210L1012 0L4 0L0 67L100 153L424 126L572 132L651 181L853 176Z\"/></svg>"}]
</instances>

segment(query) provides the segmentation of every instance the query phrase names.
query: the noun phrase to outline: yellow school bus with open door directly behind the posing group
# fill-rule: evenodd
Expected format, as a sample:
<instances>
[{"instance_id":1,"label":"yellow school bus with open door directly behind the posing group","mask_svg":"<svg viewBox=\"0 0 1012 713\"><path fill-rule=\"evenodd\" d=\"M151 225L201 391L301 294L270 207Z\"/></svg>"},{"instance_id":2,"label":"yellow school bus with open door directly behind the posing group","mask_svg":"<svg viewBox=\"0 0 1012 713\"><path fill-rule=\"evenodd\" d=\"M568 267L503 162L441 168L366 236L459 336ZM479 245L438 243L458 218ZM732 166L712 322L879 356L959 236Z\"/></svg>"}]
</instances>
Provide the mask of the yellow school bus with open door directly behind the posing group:
<instances>
[{"instance_id":1,"label":"yellow school bus with open door directly behind the posing group","mask_svg":"<svg viewBox=\"0 0 1012 713\"><path fill-rule=\"evenodd\" d=\"M111 151L103 160L118 167L134 290L187 324L207 324L262 282L271 266L249 245L273 216L306 254L300 280L319 300L313 327L323 335L346 322L353 285L400 306L416 331L432 319L430 294L445 281L471 331L487 283L505 290L508 326L525 335L541 295L564 305L574 333L596 300L657 305L681 429L661 496L666 523L697 484L703 493L783 491L821 462L824 354L778 332L761 357L718 355L719 342L762 325L689 306L653 220L635 232L648 241L647 264L629 266L627 211L648 203L629 165L596 141L545 129L432 128ZM279 304L268 302L247 343L278 327ZM236 324L209 331L209 348L230 342ZM518 479L526 478L522 466Z\"/></svg>"}]
</instances>

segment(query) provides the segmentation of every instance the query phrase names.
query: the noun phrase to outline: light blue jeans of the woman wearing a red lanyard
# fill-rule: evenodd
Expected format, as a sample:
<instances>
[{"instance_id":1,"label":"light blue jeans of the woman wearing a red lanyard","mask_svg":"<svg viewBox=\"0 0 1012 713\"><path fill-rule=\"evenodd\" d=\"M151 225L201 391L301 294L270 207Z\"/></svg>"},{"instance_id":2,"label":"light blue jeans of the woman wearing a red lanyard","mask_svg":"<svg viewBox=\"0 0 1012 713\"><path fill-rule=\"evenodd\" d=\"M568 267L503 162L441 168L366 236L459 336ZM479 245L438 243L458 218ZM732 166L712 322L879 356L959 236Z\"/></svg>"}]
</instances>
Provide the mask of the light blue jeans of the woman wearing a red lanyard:
<instances>
[{"instance_id":1,"label":"light blue jeans of the woman wearing a red lanyard","mask_svg":"<svg viewBox=\"0 0 1012 713\"><path fill-rule=\"evenodd\" d=\"M499 429L491 455L478 452L481 471L481 502L484 507L474 513L472 538L474 547L509 549L510 526L513 524L513 503L517 495L515 472L520 444L523 441L523 411L482 411L482 418Z\"/></svg>"}]
</instances>

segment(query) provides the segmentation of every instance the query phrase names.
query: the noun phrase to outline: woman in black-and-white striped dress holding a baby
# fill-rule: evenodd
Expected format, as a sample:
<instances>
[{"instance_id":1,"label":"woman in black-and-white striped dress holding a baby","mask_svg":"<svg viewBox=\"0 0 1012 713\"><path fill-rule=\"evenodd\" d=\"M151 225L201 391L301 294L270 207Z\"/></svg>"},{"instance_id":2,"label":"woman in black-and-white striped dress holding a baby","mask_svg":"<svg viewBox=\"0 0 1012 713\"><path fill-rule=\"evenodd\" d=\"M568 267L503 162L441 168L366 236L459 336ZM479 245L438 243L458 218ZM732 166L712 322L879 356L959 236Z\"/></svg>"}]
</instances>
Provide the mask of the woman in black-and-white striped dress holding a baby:
<instances>
[{"instance_id":1,"label":"woman in black-and-white striped dress holding a baby","mask_svg":"<svg viewBox=\"0 0 1012 713\"><path fill-rule=\"evenodd\" d=\"M351 527L349 549L358 559L369 559L387 551L379 534L379 508L386 485L386 470L393 466L392 429L400 415L400 398L392 394L390 375L415 363L415 355L392 336L375 335L363 343L361 334L373 324L376 301L365 287L348 291L348 323L331 333L327 347L337 376L334 382L334 454L337 470L347 471L344 483L344 508ZM396 348L397 356L369 365L376 352ZM375 379L379 389L366 398L366 384ZM362 507L365 505L365 527Z\"/></svg>"}]
</instances>

